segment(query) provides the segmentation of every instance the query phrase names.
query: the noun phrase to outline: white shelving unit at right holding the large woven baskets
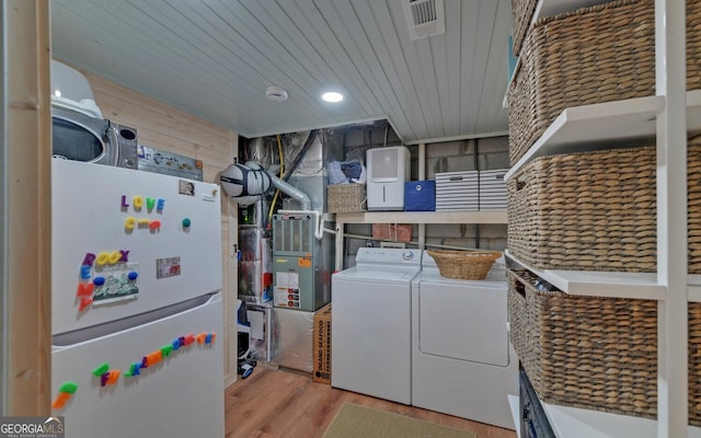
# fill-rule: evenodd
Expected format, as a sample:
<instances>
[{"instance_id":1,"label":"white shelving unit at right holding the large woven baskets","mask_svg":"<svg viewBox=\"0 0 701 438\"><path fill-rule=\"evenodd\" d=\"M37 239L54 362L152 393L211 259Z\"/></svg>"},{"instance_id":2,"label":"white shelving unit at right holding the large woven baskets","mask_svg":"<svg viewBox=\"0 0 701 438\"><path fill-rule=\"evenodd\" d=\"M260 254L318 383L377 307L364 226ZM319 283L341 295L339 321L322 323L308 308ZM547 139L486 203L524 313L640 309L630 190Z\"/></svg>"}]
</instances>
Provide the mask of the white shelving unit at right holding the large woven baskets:
<instances>
[{"instance_id":1,"label":"white shelving unit at right holding the large woven baskets","mask_svg":"<svg viewBox=\"0 0 701 438\"><path fill-rule=\"evenodd\" d=\"M540 0L533 21L604 2ZM683 314L688 301L701 302L701 275L686 273L686 198L671 196L686 191L686 153L673 145L683 143L687 134L701 132L701 90L683 90L683 8L685 1L655 0L657 95L565 110L506 175L507 180L514 177L538 157L596 150L612 140L640 143L650 138L657 145L658 273L634 275L525 267L568 293L586 295L587 290L597 290L608 297L658 300L659 420L544 404L558 437L701 437L701 428L688 426L685 414L688 324Z\"/></svg>"}]
</instances>

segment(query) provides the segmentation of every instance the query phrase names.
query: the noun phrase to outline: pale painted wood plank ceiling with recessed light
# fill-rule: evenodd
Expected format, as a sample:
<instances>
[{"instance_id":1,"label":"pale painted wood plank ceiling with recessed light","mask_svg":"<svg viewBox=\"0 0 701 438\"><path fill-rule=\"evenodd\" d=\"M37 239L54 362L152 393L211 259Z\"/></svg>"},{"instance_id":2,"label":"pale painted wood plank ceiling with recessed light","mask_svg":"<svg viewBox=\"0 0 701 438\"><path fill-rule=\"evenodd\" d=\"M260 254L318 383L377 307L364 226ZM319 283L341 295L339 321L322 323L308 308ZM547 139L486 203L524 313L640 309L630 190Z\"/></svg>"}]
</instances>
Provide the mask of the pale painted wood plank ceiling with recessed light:
<instances>
[{"instance_id":1,"label":"pale painted wood plank ceiling with recessed light","mask_svg":"<svg viewBox=\"0 0 701 438\"><path fill-rule=\"evenodd\" d=\"M510 0L445 0L446 33L416 41L404 1L53 0L53 55L248 138L376 119L407 145L505 134Z\"/></svg>"}]
</instances>

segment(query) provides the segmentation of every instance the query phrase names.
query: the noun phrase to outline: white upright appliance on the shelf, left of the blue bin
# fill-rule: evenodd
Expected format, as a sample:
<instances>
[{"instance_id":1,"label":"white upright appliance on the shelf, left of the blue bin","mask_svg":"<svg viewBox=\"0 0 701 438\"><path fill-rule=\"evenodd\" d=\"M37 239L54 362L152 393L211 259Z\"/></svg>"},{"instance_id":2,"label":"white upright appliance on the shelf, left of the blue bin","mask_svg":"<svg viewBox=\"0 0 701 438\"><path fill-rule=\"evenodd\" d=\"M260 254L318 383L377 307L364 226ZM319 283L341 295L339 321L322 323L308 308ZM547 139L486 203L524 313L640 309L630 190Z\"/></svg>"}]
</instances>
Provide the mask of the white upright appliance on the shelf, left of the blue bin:
<instances>
[{"instance_id":1,"label":"white upright appliance on the shelf, left of the blue bin","mask_svg":"<svg viewBox=\"0 0 701 438\"><path fill-rule=\"evenodd\" d=\"M368 210L404 210L404 183L411 178L409 149L369 149L367 172Z\"/></svg>"}]
</instances>

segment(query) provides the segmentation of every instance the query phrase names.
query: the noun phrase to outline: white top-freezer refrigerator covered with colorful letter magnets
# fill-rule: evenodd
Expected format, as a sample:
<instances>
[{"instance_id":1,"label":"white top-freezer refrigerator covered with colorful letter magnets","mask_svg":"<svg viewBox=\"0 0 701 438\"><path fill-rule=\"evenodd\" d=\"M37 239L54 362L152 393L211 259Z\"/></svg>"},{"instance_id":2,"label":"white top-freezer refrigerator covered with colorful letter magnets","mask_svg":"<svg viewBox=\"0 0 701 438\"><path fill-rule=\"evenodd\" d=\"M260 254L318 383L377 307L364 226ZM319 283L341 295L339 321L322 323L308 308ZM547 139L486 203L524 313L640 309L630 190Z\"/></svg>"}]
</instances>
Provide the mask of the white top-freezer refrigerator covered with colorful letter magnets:
<instances>
[{"instance_id":1,"label":"white top-freezer refrigerator covered with colorful letter magnets","mask_svg":"<svg viewBox=\"0 0 701 438\"><path fill-rule=\"evenodd\" d=\"M51 172L66 436L223 437L219 186L60 159Z\"/></svg>"}]
</instances>

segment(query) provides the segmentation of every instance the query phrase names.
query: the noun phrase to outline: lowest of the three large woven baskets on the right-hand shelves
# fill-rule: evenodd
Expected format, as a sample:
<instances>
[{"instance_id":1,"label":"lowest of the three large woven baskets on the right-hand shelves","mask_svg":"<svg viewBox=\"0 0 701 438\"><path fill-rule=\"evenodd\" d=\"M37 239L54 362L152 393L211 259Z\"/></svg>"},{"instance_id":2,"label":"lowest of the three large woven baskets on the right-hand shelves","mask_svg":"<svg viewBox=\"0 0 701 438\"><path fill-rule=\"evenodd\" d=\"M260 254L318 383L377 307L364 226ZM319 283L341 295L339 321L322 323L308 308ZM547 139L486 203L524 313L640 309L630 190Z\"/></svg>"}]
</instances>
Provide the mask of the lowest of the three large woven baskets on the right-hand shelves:
<instances>
[{"instance_id":1,"label":"lowest of the three large woven baskets on the right-hand shelves","mask_svg":"<svg viewBox=\"0 0 701 438\"><path fill-rule=\"evenodd\" d=\"M510 341L541 400L655 418L657 302L539 291L507 270ZM689 303L689 424L701 425L701 303Z\"/></svg>"}]
</instances>

